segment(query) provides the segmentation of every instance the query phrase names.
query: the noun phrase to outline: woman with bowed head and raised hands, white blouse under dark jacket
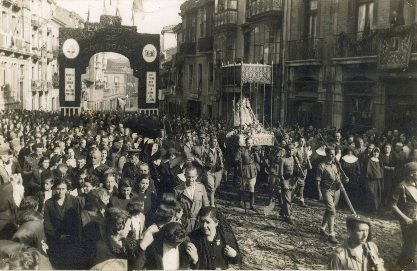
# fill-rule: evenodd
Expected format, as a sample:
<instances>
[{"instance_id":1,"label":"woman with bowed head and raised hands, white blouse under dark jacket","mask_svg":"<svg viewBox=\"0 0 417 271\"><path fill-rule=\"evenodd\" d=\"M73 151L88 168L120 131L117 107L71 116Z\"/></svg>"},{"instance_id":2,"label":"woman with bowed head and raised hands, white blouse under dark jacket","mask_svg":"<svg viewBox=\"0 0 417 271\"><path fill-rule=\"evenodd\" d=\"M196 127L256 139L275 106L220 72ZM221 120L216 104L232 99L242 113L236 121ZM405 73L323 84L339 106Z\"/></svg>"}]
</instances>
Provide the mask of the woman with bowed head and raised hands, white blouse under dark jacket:
<instances>
[{"instance_id":1,"label":"woman with bowed head and raised hands, white blouse under dark jacket","mask_svg":"<svg viewBox=\"0 0 417 271\"><path fill-rule=\"evenodd\" d=\"M170 222L153 235L146 251L137 246L138 258L134 270L198 269L198 253L185 235L184 226Z\"/></svg>"}]
</instances>

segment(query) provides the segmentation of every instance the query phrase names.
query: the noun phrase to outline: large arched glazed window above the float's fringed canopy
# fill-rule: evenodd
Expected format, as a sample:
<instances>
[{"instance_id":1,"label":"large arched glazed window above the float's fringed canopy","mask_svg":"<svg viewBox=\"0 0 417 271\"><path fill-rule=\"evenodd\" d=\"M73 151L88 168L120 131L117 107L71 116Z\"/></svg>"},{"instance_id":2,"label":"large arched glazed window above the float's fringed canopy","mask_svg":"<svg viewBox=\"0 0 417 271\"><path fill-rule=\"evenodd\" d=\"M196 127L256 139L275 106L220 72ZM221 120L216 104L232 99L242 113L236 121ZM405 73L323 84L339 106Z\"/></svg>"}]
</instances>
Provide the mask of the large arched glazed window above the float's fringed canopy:
<instances>
[{"instance_id":1,"label":"large arched glazed window above the float's fringed canopy","mask_svg":"<svg viewBox=\"0 0 417 271\"><path fill-rule=\"evenodd\" d=\"M250 59L253 63L279 63L279 30L269 30L265 25L254 28L251 32Z\"/></svg>"}]
</instances>

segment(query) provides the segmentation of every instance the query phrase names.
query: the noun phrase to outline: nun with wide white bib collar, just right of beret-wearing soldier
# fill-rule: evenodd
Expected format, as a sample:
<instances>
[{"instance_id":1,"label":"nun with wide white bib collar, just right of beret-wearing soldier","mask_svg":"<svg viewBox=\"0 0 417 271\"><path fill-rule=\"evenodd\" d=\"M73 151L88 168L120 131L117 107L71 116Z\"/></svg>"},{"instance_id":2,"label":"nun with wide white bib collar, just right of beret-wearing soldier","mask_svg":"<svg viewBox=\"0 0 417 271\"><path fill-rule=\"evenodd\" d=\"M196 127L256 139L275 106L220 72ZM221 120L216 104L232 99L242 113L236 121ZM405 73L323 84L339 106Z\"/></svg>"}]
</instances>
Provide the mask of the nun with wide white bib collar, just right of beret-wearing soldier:
<instances>
[{"instance_id":1,"label":"nun with wide white bib collar, just right of beret-wearing soldier","mask_svg":"<svg viewBox=\"0 0 417 271\"><path fill-rule=\"evenodd\" d=\"M340 158L340 163L344 173L346 173L347 177L349 178L349 182L344 184L344 188L346 189L346 193L352 201L352 204L356 204L358 176L361 173L361 167L359 164L359 159L356 156L352 146L348 146L346 149L344 149L342 157Z\"/></svg>"}]
</instances>

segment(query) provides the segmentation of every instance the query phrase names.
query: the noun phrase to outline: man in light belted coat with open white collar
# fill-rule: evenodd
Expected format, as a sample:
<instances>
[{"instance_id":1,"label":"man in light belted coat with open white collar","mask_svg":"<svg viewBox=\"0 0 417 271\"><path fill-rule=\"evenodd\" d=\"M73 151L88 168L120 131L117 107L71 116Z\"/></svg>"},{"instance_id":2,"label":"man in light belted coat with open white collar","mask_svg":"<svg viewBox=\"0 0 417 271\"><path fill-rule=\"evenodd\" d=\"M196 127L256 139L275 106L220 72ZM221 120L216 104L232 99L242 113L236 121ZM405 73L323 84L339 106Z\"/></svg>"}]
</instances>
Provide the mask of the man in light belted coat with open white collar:
<instances>
[{"instance_id":1,"label":"man in light belted coat with open white collar","mask_svg":"<svg viewBox=\"0 0 417 271\"><path fill-rule=\"evenodd\" d=\"M209 206L206 188L204 184L196 182L198 175L194 166L187 167L185 171L186 181L173 189L173 194L178 201L184 204L183 219L185 219L185 229L188 234L196 224L196 217L201 207Z\"/></svg>"}]
</instances>

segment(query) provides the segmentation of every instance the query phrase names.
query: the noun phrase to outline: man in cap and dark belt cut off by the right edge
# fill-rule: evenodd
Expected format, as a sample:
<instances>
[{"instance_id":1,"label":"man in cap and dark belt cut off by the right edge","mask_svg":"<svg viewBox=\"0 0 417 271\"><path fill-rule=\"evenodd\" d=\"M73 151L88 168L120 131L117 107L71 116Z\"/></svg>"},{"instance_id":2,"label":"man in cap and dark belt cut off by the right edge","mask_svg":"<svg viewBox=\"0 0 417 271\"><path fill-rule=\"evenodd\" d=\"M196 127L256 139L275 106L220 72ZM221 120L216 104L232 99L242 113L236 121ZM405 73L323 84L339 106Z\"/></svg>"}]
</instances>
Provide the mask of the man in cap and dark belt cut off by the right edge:
<instances>
[{"instance_id":1,"label":"man in cap and dark belt cut off by the right edge","mask_svg":"<svg viewBox=\"0 0 417 271\"><path fill-rule=\"evenodd\" d=\"M402 251L398 257L397 264L401 270L416 270L417 163L407 163L402 170L405 178L397 185L391 199L392 209L401 226L403 240Z\"/></svg>"}]
</instances>

